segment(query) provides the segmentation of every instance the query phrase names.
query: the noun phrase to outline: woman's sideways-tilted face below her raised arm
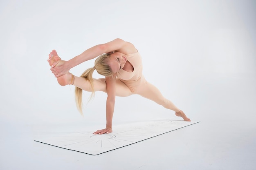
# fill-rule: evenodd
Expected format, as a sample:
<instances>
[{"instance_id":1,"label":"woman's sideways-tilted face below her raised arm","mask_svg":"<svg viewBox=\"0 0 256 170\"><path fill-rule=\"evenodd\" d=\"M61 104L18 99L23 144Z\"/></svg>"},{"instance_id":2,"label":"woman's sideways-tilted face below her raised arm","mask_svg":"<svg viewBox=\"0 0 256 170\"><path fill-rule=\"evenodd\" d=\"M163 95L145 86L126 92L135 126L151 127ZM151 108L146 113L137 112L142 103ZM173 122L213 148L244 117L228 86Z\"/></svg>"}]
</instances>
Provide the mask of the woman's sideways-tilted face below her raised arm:
<instances>
[{"instance_id":1,"label":"woman's sideways-tilted face below her raised arm","mask_svg":"<svg viewBox=\"0 0 256 170\"><path fill-rule=\"evenodd\" d=\"M123 53L112 53L110 55L109 66L113 73L117 73L120 69L124 68L127 58Z\"/></svg>"}]
</instances>

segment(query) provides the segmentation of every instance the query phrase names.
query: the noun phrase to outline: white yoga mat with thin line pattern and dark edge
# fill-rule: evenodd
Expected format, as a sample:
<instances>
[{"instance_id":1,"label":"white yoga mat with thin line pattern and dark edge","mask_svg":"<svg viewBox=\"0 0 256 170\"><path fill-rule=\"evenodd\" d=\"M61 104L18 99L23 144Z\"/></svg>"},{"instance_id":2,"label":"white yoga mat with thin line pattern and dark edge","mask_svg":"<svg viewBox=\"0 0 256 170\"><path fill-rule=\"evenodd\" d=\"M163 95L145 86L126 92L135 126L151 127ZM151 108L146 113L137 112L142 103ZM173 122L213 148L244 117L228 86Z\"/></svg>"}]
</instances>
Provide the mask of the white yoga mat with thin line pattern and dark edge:
<instances>
[{"instance_id":1,"label":"white yoga mat with thin line pattern and dark edge","mask_svg":"<svg viewBox=\"0 0 256 170\"><path fill-rule=\"evenodd\" d=\"M198 122L200 121L157 120L136 122L115 126L113 132L109 134L94 135L92 131L75 132L35 141L90 155L99 155Z\"/></svg>"}]
</instances>

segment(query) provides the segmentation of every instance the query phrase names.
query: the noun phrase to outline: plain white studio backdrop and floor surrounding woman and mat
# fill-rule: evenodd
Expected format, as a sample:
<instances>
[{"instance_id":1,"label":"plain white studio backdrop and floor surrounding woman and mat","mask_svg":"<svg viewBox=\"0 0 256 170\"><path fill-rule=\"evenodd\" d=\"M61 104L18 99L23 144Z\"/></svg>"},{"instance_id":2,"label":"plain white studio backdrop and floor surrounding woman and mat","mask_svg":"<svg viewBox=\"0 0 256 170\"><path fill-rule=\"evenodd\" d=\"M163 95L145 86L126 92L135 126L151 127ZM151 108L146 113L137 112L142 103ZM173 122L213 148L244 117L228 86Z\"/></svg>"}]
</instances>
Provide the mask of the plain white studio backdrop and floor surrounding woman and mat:
<instances>
[{"instance_id":1,"label":"plain white studio backdrop and floor surrounding woman and mat","mask_svg":"<svg viewBox=\"0 0 256 170\"><path fill-rule=\"evenodd\" d=\"M2 0L0 169L253 169L255 9L254 0ZM106 94L87 104L85 92L82 117L47 58L115 38L133 43L148 82L201 123L94 157L34 142L104 128ZM116 99L114 125L160 118L179 119L137 95Z\"/></svg>"}]
</instances>

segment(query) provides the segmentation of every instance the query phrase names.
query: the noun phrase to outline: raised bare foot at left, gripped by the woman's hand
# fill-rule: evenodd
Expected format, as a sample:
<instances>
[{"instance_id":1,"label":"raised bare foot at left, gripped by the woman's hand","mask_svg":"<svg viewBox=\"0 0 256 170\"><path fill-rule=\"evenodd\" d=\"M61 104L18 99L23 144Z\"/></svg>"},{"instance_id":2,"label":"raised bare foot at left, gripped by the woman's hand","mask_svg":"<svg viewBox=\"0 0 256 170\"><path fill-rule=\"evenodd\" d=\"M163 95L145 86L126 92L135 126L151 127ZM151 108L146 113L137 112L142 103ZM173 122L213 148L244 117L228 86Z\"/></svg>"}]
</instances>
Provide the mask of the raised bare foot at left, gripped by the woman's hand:
<instances>
[{"instance_id":1,"label":"raised bare foot at left, gripped by the woman's hand","mask_svg":"<svg viewBox=\"0 0 256 170\"><path fill-rule=\"evenodd\" d=\"M52 50L52 52L49 53L49 60L47 60L47 61L49 62L50 66L56 64L56 62L58 62L60 60L61 60L61 57L58 56L56 50ZM60 84L61 86L71 84L72 76L73 75L71 73L66 73L66 74L62 75L61 77L58 77L57 78L58 84Z\"/></svg>"}]
</instances>

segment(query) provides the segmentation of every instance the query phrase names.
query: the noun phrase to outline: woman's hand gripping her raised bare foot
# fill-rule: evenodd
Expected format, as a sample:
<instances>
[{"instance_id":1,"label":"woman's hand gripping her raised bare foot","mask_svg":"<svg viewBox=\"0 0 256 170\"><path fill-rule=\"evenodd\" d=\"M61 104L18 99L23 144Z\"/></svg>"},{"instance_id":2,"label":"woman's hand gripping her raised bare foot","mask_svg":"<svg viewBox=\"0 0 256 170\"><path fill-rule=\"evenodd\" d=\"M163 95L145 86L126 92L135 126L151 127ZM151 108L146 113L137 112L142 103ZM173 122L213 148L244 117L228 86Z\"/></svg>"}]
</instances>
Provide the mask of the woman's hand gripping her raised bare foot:
<instances>
[{"instance_id":1,"label":"woman's hand gripping her raised bare foot","mask_svg":"<svg viewBox=\"0 0 256 170\"><path fill-rule=\"evenodd\" d=\"M55 77L60 77L70 71L70 64L65 60L59 60L58 62L54 62L51 71Z\"/></svg>"}]
</instances>

